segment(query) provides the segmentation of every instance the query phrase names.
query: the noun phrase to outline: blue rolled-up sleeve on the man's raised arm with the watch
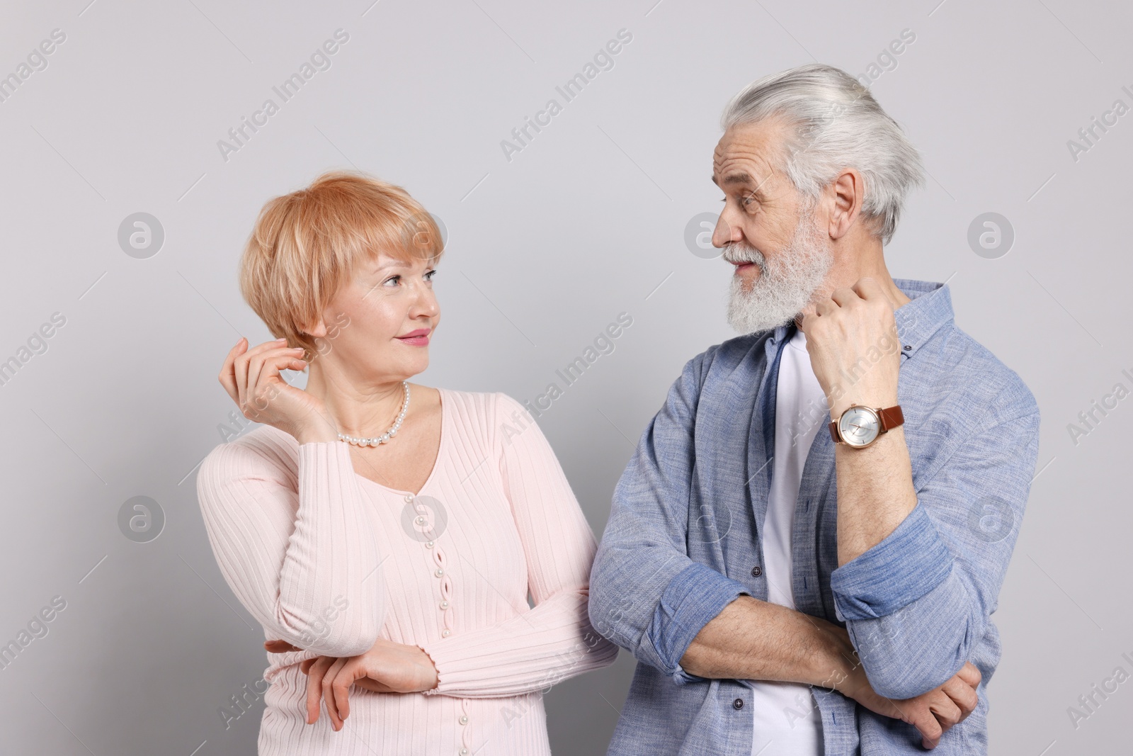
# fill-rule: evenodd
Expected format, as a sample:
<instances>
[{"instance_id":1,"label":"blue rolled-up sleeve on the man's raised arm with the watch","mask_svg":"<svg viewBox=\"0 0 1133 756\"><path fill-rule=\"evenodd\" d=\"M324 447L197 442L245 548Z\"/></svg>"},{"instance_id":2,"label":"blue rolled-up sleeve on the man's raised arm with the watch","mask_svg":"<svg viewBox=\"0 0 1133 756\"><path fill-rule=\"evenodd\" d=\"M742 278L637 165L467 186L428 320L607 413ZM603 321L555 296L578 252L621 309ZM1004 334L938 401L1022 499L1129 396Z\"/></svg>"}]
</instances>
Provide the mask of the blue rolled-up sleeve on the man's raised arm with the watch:
<instances>
[{"instance_id":1,"label":"blue rolled-up sleeve on the man's raised arm with the watch","mask_svg":"<svg viewBox=\"0 0 1133 756\"><path fill-rule=\"evenodd\" d=\"M1016 383L917 492L893 533L830 574L835 613L872 688L947 681L988 631L1038 458L1039 408ZM981 670L989 674L990 670Z\"/></svg>"}]
</instances>

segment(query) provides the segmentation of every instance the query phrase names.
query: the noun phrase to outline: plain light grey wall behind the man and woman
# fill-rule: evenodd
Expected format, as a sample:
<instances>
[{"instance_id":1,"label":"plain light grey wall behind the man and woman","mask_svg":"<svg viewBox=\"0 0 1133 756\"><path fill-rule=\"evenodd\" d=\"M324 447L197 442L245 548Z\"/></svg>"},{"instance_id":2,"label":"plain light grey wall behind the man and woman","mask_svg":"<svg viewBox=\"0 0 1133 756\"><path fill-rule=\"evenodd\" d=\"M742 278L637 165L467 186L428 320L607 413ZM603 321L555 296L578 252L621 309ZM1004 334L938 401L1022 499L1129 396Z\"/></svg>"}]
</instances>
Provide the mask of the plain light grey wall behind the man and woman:
<instances>
[{"instance_id":1,"label":"plain light grey wall behind the man and woman","mask_svg":"<svg viewBox=\"0 0 1133 756\"><path fill-rule=\"evenodd\" d=\"M1067 424L1133 380L1125 219L1133 114L1075 161L1067 141L1133 104L1118 2L518 0L8 3L0 75L54 28L66 42L0 102L0 360L52 313L66 324L0 385L0 642L52 596L66 609L0 670L8 753L253 754L262 702L221 706L266 662L225 586L195 495L233 405L216 382L241 334L266 340L236 286L259 206L329 168L404 186L449 229L442 325L417 381L534 399L620 312L633 317L539 419L596 534L633 445L687 359L734 335L730 271L685 223L718 212L718 117L749 80L810 60L863 74L931 175L886 250L898 278L948 281L961 328L1042 410L1039 473L995 621L997 754L1114 753L1133 682L1088 720L1067 707L1133 672L1127 601L1133 399L1074 443ZM349 42L225 162L218 139L334 29ZM500 142L619 29L632 42L508 161ZM275 97L278 100L278 97ZM1128 122L1126 122L1128 121ZM164 230L139 260L136 212ZM1015 233L986 258L978 215ZM157 502L160 536L118 516ZM632 672L622 652L546 697L556 754L598 754ZM195 750L196 749L196 750Z\"/></svg>"}]
</instances>

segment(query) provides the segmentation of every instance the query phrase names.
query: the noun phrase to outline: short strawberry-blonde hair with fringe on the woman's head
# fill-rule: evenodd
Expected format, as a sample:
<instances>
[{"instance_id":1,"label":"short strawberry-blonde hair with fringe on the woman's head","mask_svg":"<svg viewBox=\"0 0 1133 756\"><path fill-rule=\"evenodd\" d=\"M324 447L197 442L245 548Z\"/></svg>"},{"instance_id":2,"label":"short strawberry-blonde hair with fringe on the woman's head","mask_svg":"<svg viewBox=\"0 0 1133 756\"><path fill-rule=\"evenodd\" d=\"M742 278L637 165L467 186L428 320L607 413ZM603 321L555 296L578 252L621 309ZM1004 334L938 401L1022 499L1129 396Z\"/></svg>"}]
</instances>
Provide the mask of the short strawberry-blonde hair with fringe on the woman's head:
<instances>
[{"instance_id":1,"label":"short strawberry-blonde hair with fringe on the woman's head","mask_svg":"<svg viewBox=\"0 0 1133 756\"><path fill-rule=\"evenodd\" d=\"M360 172L329 171L305 189L270 199L240 260L240 294L275 338L317 352L304 333L378 253L436 263L443 253L433 216L400 186Z\"/></svg>"}]
</instances>

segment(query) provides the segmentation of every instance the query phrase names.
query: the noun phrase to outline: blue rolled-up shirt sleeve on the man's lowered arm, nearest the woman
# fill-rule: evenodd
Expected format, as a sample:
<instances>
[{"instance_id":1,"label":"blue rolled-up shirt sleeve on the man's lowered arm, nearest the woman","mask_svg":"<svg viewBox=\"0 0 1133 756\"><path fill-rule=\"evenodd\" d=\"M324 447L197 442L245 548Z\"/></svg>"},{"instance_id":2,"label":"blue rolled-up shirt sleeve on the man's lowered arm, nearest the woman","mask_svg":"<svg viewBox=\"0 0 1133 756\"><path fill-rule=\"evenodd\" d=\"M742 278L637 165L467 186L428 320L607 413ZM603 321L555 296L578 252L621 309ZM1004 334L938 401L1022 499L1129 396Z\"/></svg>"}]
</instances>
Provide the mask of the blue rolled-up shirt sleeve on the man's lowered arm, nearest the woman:
<instances>
[{"instance_id":1,"label":"blue rolled-up shirt sleeve on the man's lowered arm, nearest the woman","mask_svg":"<svg viewBox=\"0 0 1133 756\"><path fill-rule=\"evenodd\" d=\"M614 490L590 571L595 629L676 685L692 639L748 591L688 555L693 425L706 351L690 359L649 422Z\"/></svg>"}]
</instances>

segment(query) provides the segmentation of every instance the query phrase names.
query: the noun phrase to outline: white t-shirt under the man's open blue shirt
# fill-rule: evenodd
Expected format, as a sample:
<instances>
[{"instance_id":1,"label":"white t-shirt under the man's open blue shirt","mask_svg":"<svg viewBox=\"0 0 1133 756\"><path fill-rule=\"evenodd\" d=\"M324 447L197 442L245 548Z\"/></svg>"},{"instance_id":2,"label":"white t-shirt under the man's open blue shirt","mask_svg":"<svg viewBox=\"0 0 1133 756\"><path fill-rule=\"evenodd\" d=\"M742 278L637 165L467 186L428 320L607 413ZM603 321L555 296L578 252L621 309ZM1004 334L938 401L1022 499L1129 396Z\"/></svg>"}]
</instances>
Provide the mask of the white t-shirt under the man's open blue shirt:
<instances>
[{"instance_id":1,"label":"white t-shirt under the man's open blue shirt","mask_svg":"<svg viewBox=\"0 0 1133 756\"><path fill-rule=\"evenodd\" d=\"M764 520L767 600L794 609L791 533L802 466L829 407L810 367L807 337L796 331L783 348L775 397L775 458ZM810 686L747 680L755 716L752 756L821 756L823 720Z\"/></svg>"}]
</instances>

